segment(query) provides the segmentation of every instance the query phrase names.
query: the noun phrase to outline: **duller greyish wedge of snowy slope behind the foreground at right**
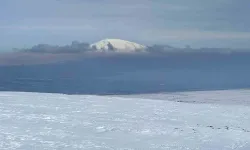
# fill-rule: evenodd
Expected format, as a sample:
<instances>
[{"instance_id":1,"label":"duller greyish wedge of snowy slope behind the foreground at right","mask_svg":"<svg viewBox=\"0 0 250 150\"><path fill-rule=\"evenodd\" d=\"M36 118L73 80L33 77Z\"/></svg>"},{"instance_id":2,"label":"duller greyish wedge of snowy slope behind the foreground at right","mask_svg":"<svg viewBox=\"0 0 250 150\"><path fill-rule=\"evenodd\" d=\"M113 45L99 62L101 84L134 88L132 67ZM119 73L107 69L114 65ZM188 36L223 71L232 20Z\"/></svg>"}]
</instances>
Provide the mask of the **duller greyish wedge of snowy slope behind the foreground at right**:
<instances>
[{"instance_id":1,"label":"duller greyish wedge of snowy slope behind the foreground at right","mask_svg":"<svg viewBox=\"0 0 250 150\"><path fill-rule=\"evenodd\" d=\"M124 98L143 98L153 100L168 100L185 103L248 105L250 106L250 90L220 90L197 92L174 92L159 94L120 95Z\"/></svg>"}]
</instances>

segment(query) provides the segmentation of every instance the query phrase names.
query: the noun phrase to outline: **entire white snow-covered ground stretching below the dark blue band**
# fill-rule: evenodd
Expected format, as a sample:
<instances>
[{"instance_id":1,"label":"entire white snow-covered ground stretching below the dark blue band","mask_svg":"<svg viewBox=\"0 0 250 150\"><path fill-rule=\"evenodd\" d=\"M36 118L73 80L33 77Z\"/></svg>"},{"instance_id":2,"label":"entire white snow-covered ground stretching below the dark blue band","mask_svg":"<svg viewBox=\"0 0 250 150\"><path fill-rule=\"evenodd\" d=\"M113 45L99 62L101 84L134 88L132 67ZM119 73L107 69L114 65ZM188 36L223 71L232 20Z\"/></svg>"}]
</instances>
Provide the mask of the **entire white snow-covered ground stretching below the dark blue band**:
<instances>
[{"instance_id":1,"label":"entire white snow-covered ground stretching below the dark blue band","mask_svg":"<svg viewBox=\"0 0 250 150\"><path fill-rule=\"evenodd\" d=\"M148 96L0 92L0 150L250 149L250 90Z\"/></svg>"}]
</instances>

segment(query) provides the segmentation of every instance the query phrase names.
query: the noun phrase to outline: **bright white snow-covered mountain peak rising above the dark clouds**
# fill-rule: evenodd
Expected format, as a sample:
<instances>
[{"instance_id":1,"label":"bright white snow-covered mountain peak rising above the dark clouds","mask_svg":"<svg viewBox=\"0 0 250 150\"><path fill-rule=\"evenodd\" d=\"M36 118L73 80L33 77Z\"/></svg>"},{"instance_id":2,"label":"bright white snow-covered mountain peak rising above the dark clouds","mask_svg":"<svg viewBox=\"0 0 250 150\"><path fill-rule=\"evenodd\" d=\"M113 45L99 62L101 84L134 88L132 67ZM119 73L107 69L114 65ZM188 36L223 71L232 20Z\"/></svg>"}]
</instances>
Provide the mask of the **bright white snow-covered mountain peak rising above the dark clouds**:
<instances>
[{"instance_id":1,"label":"bright white snow-covered mountain peak rising above the dark clouds","mask_svg":"<svg viewBox=\"0 0 250 150\"><path fill-rule=\"evenodd\" d=\"M105 39L91 44L97 51L107 52L144 52L146 46L121 39Z\"/></svg>"}]
</instances>

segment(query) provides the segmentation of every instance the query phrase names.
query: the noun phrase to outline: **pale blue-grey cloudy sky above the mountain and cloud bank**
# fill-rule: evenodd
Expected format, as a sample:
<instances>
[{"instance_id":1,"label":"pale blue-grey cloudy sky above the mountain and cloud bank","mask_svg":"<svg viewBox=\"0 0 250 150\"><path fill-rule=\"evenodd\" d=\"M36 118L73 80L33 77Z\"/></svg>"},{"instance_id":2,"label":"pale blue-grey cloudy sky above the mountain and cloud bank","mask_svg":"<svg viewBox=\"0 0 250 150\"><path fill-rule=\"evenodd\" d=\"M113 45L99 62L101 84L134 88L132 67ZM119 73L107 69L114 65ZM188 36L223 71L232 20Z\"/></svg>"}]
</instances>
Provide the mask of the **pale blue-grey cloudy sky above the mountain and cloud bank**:
<instances>
[{"instance_id":1,"label":"pale blue-grey cloudy sky above the mountain and cloud bank","mask_svg":"<svg viewBox=\"0 0 250 150\"><path fill-rule=\"evenodd\" d=\"M119 38L250 48L249 0L0 0L0 49Z\"/></svg>"}]
</instances>

